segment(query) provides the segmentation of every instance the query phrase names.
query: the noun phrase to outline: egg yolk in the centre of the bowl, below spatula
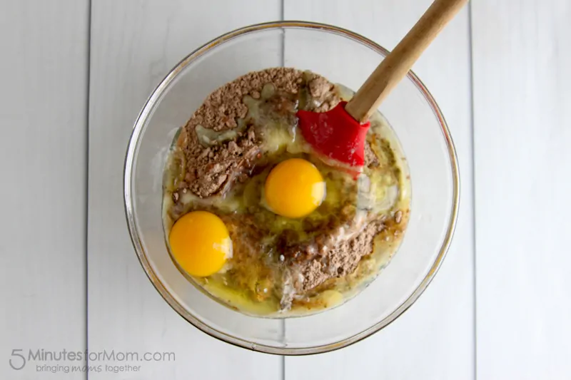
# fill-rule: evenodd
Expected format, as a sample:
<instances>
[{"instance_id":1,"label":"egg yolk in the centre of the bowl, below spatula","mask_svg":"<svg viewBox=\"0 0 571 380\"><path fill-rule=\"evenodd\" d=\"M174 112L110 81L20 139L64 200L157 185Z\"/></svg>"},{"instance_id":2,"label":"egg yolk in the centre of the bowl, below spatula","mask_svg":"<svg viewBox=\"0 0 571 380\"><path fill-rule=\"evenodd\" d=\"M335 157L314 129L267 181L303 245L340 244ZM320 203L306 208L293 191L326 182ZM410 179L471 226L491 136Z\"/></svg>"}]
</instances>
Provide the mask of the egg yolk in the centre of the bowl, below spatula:
<instances>
[{"instance_id":1,"label":"egg yolk in the centre of the bowl, below spatula","mask_svg":"<svg viewBox=\"0 0 571 380\"><path fill-rule=\"evenodd\" d=\"M284 217L303 217L325 197L325 182L313 163L290 158L273 168L264 186L266 203Z\"/></svg>"}]
</instances>

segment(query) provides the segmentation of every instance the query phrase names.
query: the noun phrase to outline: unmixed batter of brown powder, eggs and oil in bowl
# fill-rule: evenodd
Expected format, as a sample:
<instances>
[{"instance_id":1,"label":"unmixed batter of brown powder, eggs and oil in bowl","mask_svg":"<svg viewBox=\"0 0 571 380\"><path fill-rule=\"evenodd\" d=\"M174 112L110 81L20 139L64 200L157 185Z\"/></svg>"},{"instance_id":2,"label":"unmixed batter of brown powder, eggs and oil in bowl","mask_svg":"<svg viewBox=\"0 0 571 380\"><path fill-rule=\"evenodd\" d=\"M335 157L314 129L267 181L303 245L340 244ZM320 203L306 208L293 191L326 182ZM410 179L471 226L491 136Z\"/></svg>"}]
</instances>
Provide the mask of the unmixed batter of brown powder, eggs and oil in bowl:
<instances>
[{"instance_id":1,"label":"unmixed batter of brown powder, eggs and oil in bowl","mask_svg":"<svg viewBox=\"0 0 571 380\"><path fill-rule=\"evenodd\" d=\"M373 115L365 165L347 168L297 127L299 109L328 111L352 95L315 73L268 68L193 113L163 187L167 245L191 282L246 314L289 317L344 302L388 264L410 213L392 128Z\"/></svg>"}]
</instances>

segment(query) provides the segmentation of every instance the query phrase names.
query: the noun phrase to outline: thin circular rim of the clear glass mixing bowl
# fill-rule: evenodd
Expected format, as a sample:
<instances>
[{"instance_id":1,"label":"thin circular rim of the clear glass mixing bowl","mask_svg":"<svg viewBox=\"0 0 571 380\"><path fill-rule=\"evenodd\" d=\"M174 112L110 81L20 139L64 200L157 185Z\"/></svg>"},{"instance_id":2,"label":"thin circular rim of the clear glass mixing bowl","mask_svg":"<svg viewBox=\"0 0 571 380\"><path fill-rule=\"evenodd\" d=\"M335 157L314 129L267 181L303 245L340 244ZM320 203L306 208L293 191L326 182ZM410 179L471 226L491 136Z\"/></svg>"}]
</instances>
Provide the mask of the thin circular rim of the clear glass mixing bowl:
<instances>
[{"instance_id":1,"label":"thin circular rim of the clear glass mixing bowl","mask_svg":"<svg viewBox=\"0 0 571 380\"><path fill-rule=\"evenodd\" d=\"M350 344L354 344L359 342L366 337L370 337L371 335L375 334L375 332L380 331L384 327L388 326L391 322L397 319L401 314L403 314L412 304L420 297L420 294L423 294L425 289L428 287L428 284L433 280L435 274L438 272L440 265L448 252L448 248L450 247L450 243L452 242L452 237L454 235L454 230L456 227L456 221L458 219L458 207L460 204L460 173L458 170L458 158L456 156L456 151L453 143L452 136L450 135L450 130L448 130L448 125L444 119L438 104L434 100L433 96L430 94L428 89L424 86L423 82L420 81L418 76L416 76L413 71L409 71L407 76L408 78L413 81L415 86L418 88L418 91L423 94L425 100L428 102L430 108L432 108L435 117L438 118L438 123L440 123L441 131L443 133L443 137L445 138L445 143L448 148L448 155L450 156L450 169L452 170L452 182L453 182L453 205L450 211L450 222L448 224L448 228L445 233L445 237L443 240L443 245L440 247L438 252L438 256L436 257L433 265L430 267L428 274L423 278L423 281L420 282L418 287L414 290L410 296L405 299L405 301L400 304L393 312L391 312L388 317L381 320L380 322L374 324L373 326L369 327L368 329L363 330L358 334L354 334L351 337L343 339L339 342L331 343L331 344L324 344L321 346L313 346L313 347L303 347L303 348L288 348L288 347L275 347L275 346L268 346L265 344L256 344L253 342L249 342L246 339L233 337L230 334L226 334L225 332L218 331L217 329L213 329L212 327L205 324L200 319L196 318L184 309L181 304L176 301L176 298L173 297L170 292L164 287L163 283L156 277L156 274L153 272L151 265L148 262L146 257L146 253L143 250L143 245L141 243L141 237L139 236L137 225L136 225L136 216L134 212L133 206L133 199L134 194L132 192L132 176L134 171L134 163L136 158L136 153L138 150L138 142L141 138L141 132L143 131L143 127L146 124L147 118L150 115L153 108L156 106L157 101L161 98L162 93L168 87L168 84L173 81L178 73L182 71L183 68L191 64L196 58L202 56L207 51L211 50L212 48L229 41L233 38L238 36L243 36L245 34L253 33L256 31L263 31L266 29L318 29L320 31L326 31L333 34L338 34L340 36L344 36L349 38L355 42L361 43L368 48L371 48L373 51L377 51L383 56L386 56L389 51L382 46L378 45L360 34L356 34L353 31L349 31L347 29L340 28L338 26L333 26L329 24L320 24L315 22L309 21L270 21L261 24L253 24L250 26L244 26L239 29L235 29L230 31L226 34L218 36L214 38L212 41L205 43L203 46L197 48L195 51L191 52L182 59L176 66L169 71L165 78L161 81L161 83L156 86L156 88L151 93L151 96L148 97L145 105L141 109L135 124L133 125L133 132L131 133L131 138L129 138L126 158L125 158L125 165L123 170L123 199L124 199L124 207L125 207L125 216L128 225L129 235L131 235L131 242L133 243L133 247L135 248L137 257L143 270L145 271L148 279L151 280L153 286L157 290L161 297L165 299L165 301L186 321L193 324L194 327L200 329L201 331L205 332L206 334L214 337L216 339L220 339L223 342L233 344L235 346L240 346L246 349L251 349L253 351L264 352L267 354L278 354L278 355L308 355L308 354L320 354L328 351L333 351L336 349L343 348L345 346L349 346Z\"/></svg>"}]
</instances>

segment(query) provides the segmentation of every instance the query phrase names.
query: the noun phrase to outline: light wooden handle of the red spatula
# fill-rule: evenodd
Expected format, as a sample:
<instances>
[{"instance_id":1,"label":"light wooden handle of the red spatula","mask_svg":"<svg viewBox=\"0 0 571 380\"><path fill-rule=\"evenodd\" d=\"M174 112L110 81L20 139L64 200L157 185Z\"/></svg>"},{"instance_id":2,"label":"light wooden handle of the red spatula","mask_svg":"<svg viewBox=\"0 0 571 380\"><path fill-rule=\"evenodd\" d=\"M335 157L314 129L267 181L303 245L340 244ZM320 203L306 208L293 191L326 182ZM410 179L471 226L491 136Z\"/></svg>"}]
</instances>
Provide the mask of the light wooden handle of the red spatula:
<instances>
[{"instance_id":1,"label":"light wooden handle of the red spatula","mask_svg":"<svg viewBox=\"0 0 571 380\"><path fill-rule=\"evenodd\" d=\"M375 68L353 99L347 103L345 111L361 123L368 120L385 96L408 73L425 48L466 3L468 0L435 0L413 29L410 29L405 38Z\"/></svg>"}]
</instances>

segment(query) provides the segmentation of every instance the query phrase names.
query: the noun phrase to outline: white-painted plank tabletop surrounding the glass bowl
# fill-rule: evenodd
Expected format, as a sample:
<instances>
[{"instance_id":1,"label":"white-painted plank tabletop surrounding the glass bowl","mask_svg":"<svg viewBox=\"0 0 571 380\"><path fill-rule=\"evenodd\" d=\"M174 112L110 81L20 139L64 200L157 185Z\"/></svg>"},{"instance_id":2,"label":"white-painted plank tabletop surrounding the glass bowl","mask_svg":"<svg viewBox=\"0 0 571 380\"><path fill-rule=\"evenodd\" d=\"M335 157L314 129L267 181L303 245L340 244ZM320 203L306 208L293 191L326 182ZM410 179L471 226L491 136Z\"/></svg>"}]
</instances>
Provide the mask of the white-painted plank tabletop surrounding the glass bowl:
<instances>
[{"instance_id":1,"label":"white-painted plank tabletop surrounding the glass bowl","mask_svg":"<svg viewBox=\"0 0 571 380\"><path fill-rule=\"evenodd\" d=\"M429 4L0 0L0 379L570 379L568 0L473 0L415 65L453 133L460 216L433 284L382 332L318 356L238 349L178 317L133 253L126 143L181 57L276 19L392 48ZM176 361L52 373L38 360L13 369L23 364L14 349L172 351Z\"/></svg>"}]
</instances>

